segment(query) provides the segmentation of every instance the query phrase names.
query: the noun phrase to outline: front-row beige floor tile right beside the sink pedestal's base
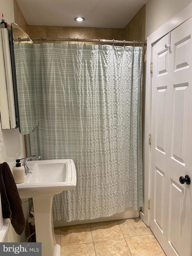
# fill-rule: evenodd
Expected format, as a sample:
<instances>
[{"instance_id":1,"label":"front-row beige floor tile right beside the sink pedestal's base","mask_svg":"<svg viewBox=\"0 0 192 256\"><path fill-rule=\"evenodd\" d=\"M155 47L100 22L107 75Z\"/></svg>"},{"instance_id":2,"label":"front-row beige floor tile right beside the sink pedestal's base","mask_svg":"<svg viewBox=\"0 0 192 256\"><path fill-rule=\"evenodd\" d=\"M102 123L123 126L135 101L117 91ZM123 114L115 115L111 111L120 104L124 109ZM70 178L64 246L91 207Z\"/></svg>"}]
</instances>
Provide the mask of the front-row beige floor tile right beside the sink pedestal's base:
<instances>
[{"instance_id":1,"label":"front-row beige floor tile right beside the sink pedestal's base","mask_svg":"<svg viewBox=\"0 0 192 256\"><path fill-rule=\"evenodd\" d=\"M61 246L61 256L95 256L93 242Z\"/></svg>"}]
</instances>

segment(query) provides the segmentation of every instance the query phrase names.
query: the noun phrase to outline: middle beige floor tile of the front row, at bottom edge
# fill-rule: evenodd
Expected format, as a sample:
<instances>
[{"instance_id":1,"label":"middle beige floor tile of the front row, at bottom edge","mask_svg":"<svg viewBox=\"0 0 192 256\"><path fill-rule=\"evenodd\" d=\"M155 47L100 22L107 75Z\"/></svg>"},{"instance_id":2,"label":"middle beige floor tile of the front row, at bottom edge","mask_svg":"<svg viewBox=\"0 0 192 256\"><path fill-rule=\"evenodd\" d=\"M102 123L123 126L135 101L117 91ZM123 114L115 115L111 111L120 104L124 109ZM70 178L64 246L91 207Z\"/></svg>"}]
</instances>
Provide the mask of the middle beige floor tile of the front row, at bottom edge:
<instances>
[{"instance_id":1,"label":"middle beige floor tile of the front row, at bottom edge","mask_svg":"<svg viewBox=\"0 0 192 256\"><path fill-rule=\"evenodd\" d=\"M94 242L97 256L131 256L125 238Z\"/></svg>"}]
</instances>

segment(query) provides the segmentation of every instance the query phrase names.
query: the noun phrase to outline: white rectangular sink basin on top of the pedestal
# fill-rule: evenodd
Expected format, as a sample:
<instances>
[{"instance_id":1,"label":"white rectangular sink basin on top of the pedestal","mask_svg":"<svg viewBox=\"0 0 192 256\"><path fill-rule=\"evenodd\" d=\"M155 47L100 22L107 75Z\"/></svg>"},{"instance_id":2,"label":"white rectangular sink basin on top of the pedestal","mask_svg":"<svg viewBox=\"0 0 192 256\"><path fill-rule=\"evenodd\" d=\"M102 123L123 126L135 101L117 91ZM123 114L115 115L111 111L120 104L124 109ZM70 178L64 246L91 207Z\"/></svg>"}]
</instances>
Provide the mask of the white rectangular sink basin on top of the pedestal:
<instances>
[{"instance_id":1,"label":"white rectangular sink basin on top of the pedestal","mask_svg":"<svg viewBox=\"0 0 192 256\"><path fill-rule=\"evenodd\" d=\"M28 161L27 166L25 181L16 184L21 199L55 195L76 186L76 169L71 159Z\"/></svg>"}]
</instances>

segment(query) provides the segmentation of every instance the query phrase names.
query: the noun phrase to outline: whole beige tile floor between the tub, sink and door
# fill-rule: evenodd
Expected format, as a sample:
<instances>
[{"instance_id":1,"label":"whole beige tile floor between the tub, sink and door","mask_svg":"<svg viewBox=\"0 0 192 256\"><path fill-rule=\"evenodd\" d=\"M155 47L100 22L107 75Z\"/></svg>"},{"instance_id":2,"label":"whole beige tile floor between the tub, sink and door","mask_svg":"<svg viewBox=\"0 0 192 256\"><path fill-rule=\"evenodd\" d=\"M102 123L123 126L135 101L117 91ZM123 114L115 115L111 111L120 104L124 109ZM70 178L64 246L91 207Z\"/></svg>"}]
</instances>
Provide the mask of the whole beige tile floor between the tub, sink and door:
<instances>
[{"instance_id":1,"label":"whole beige tile floor between the tub, sink and door","mask_svg":"<svg viewBox=\"0 0 192 256\"><path fill-rule=\"evenodd\" d=\"M61 256L166 256L140 218L56 227Z\"/></svg>"}]
</instances>

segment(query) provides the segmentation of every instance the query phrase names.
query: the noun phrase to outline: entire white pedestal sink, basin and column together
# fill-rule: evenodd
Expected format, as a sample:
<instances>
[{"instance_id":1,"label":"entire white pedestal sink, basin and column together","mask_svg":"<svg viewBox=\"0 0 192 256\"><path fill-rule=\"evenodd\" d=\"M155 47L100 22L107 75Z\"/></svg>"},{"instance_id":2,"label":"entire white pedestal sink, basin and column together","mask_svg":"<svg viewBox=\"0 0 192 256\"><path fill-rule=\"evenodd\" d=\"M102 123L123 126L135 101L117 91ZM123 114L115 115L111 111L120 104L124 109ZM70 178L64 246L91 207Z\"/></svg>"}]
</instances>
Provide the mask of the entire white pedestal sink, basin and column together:
<instances>
[{"instance_id":1,"label":"entire white pedestal sink, basin and column together","mask_svg":"<svg viewBox=\"0 0 192 256\"><path fill-rule=\"evenodd\" d=\"M33 198L36 241L42 243L42 256L60 256L52 221L52 200L55 194L76 187L73 160L39 160L27 162L29 173L17 185L21 199Z\"/></svg>"}]
</instances>

